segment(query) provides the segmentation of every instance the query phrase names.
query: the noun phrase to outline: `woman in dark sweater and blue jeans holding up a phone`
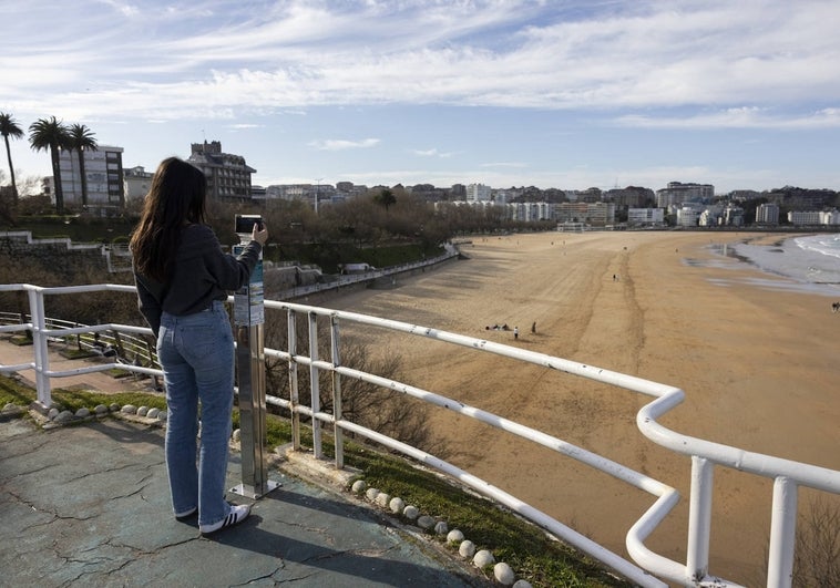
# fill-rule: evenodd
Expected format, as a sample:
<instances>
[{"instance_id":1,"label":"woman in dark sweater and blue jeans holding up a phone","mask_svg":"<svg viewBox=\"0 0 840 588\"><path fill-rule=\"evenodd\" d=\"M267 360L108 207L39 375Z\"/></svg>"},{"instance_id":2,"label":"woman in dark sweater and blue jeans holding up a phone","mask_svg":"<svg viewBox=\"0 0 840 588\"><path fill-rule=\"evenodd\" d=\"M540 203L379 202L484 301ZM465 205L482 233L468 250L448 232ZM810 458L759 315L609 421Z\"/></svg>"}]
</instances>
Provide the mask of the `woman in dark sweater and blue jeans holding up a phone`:
<instances>
[{"instance_id":1,"label":"woman in dark sweater and blue jeans holding up a phone","mask_svg":"<svg viewBox=\"0 0 840 588\"><path fill-rule=\"evenodd\" d=\"M234 257L205 223L206 178L176 157L161 162L131 238L140 311L157 338L166 385L166 471L177 519L198 513L202 534L244 520L225 501L234 340L224 301L247 283L268 233ZM198 403L202 436L196 464Z\"/></svg>"}]
</instances>

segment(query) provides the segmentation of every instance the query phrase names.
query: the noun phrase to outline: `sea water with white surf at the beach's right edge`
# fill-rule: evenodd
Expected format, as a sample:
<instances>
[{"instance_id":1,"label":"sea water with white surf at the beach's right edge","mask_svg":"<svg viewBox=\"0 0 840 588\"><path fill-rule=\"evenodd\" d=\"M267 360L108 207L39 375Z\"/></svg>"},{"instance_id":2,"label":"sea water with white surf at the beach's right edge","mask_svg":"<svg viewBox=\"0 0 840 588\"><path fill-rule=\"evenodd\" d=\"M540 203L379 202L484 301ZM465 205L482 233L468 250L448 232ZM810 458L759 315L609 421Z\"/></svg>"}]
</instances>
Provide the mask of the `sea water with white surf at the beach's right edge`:
<instances>
[{"instance_id":1,"label":"sea water with white surf at the beach's right edge","mask_svg":"<svg viewBox=\"0 0 840 588\"><path fill-rule=\"evenodd\" d=\"M840 235L780 238L772 245L730 244L725 254L783 280L757 286L840 297Z\"/></svg>"}]
</instances>

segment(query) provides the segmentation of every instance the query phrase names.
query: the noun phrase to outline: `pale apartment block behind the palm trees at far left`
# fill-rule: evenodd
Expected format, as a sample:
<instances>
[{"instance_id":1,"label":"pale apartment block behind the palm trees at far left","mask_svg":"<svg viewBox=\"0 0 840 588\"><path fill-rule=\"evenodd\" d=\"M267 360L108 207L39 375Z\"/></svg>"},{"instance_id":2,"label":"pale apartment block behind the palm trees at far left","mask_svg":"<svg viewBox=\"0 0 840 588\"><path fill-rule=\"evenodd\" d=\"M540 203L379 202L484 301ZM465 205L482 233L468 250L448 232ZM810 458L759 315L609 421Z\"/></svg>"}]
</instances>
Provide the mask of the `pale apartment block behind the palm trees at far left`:
<instances>
[{"instance_id":1,"label":"pale apartment block behind the palm trees at far left","mask_svg":"<svg viewBox=\"0 0 840 588\"><path fill-rule=\"evenodd\" d=\"M99 145L96 151L83 151L86 202L82 202L82 174L79 152L62 149L59 154L61 190L64 206L86 205L100 210L122 208L125 204L123 185L123 148ZM53 196L54 197L54 196Z\"/></svg>"}]
</instances>

